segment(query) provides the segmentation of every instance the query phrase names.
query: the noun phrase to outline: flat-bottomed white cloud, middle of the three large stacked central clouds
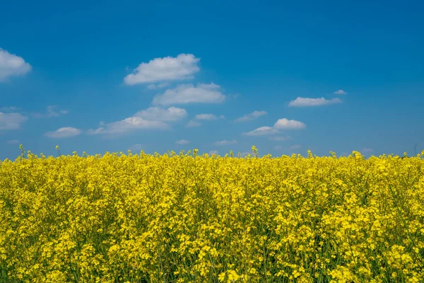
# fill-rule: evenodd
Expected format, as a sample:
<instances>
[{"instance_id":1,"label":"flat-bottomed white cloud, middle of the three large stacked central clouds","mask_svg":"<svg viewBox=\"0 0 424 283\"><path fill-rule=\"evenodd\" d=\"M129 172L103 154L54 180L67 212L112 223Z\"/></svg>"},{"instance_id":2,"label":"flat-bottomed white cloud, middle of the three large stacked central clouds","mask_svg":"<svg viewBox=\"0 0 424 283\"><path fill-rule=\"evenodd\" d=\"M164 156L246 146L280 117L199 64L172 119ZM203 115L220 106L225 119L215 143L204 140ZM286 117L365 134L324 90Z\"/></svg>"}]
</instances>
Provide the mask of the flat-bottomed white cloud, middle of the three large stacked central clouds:
<instances>
[{"instance_id":1,"label":"flat-bottomed white cloud, middle of the three large stacked central clouds","mask_svg":"<svg viewBox=\"0 0 424 283\"><path fill-rule=\"evenodd\" d=\"M222 103L226 96L219 91L215 83L182 84L168 89L153 98L153 105L171 105L187 103Z\"/></svg>"}]
</instances>

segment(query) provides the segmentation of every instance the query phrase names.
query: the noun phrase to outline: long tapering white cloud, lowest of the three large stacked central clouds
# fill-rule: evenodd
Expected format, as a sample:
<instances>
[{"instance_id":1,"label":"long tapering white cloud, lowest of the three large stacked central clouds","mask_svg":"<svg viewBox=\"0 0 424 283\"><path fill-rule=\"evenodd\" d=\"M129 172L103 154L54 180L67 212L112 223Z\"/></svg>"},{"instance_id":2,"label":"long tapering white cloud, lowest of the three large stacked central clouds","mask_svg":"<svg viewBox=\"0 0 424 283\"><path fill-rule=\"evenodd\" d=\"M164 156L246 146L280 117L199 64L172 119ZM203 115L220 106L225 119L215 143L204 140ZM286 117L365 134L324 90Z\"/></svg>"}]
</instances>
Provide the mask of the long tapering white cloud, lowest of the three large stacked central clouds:
<instances>
[{"instance_id":1,"label":"long tapering white cloud, lowest of the three large stacked central clouds","mask_svg":"<svg viewBox=\"0 0 424 283\"><path fill-rule=\"evenodd\" d=\"M112 122L97 129L89 129L88 134L125 134L139 129L167 129L169 126L162 121L145 120L142 117L128 117Z\"/></svg>"}]
</instances>

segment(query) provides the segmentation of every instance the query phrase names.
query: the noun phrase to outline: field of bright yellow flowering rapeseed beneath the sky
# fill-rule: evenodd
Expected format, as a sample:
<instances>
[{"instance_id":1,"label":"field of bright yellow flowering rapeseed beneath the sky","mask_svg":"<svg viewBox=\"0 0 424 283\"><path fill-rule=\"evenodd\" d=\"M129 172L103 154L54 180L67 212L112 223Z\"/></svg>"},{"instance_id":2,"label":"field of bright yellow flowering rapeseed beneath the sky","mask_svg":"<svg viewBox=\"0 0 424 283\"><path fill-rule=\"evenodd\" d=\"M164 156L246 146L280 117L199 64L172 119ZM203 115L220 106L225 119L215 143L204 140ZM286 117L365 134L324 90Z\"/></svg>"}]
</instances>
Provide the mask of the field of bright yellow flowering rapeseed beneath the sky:
<instances>
[{"instance_id":1,"label":"field of bright yellow flowering rapeseed beneath the sky","mask_svg":"<svg viewBox=\"0 0 424 283\"><path fill-rule=\"evenodd\" d=\"M411 158L0 162L0 282L424 282Z\"/></svg>"}]
</instances>

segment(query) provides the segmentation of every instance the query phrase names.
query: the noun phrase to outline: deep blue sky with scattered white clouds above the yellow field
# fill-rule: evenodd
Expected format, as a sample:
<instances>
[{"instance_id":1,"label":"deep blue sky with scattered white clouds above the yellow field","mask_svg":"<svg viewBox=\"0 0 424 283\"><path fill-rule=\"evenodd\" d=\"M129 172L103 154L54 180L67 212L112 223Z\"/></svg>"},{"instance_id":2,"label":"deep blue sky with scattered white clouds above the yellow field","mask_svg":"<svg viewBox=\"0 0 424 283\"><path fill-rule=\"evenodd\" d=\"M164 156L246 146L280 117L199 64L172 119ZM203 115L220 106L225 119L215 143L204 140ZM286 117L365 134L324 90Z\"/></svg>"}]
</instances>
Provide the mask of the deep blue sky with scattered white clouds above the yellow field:
<instances>
[{"instance_id":1,"label":"deep blue sky with scattered white clouds above the yellow field","mask_svg":"<svg viewBox=\"0 0 424 283\"><path fill-rule=\"evenodd\" d=\"M424 149L421 1L8 1L0 159Z\"/></svg>"}]
</instances>

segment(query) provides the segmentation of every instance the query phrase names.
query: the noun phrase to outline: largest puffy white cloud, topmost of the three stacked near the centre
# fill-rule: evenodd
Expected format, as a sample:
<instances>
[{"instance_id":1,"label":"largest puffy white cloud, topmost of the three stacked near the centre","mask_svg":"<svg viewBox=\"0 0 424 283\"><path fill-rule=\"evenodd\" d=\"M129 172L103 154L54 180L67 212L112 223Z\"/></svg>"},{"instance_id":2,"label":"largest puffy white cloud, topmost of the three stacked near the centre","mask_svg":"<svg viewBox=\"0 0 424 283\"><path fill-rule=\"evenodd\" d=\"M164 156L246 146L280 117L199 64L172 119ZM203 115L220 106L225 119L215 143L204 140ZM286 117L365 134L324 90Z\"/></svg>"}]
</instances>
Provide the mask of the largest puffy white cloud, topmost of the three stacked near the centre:
<instances>
[{"instance_id":1,"label":"largest puffy white cloud, topmost of the three stacked near the centre","mask_svg":"<svg viewBox=\"0 0 424 283\"><path fill-rule=\"evenodd\" d=\"M134 85L136 83L192 79L193 74L200 70L197 67L199 60L193 54L155 58L148 63L141 63L132 74L125 76L124 82Z\"/></svg>"}]
</instances>

